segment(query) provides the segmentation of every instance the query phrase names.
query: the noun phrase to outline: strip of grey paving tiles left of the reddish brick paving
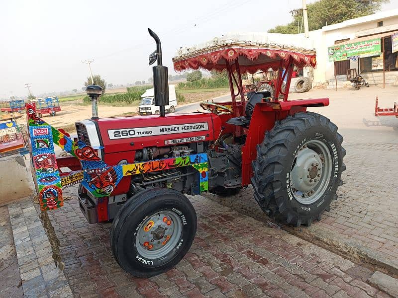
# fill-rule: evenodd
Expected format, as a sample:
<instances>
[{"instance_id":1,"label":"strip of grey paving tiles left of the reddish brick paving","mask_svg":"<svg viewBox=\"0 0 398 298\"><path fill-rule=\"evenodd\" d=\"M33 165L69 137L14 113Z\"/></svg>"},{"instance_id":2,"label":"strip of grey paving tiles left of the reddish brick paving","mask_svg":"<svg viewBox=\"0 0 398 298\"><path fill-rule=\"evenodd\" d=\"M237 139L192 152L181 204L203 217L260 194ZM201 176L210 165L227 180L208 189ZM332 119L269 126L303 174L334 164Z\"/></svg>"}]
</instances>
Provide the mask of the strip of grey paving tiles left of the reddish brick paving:
<instances>
[{"instance_id":1,"label":"strip of grey paving tiles left of the reddish brick paving","mask_svg":"<svg viewBox=\"0 0 398 298\"><path fill-rule=\"evenodd\" d=\"M63 271L52 258L50 242L30 198L8 204L23 295L72 298Z\"/></svg>"}]
</instances>

